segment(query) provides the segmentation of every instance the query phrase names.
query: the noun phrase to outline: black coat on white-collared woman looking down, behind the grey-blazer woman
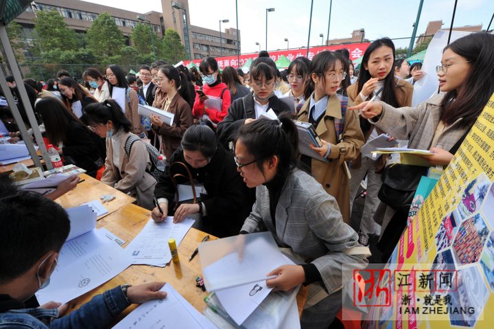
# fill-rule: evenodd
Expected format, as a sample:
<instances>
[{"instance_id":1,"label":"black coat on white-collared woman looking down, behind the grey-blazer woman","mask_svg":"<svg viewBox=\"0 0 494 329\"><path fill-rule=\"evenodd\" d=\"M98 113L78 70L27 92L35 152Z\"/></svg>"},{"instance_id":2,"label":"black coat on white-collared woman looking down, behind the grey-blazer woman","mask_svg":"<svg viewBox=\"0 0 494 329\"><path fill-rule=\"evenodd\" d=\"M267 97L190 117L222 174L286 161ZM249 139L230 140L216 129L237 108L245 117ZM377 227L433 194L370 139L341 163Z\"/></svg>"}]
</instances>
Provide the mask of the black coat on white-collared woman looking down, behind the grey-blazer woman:
<instances>
[{"instance_id":1,"label":"black coat on white-collared woman looking down, behind the grey-blazer woman","mask_svg":"<svg viewBox=\"0 0 494 329\"><path fill-rule=\"evenodd\" d=\"M254 92L251 91L243 98L239 98L235 100L235 102L232 102L228 108L228 115L226 115L222 122L217 124L218 138L227 150L229 149L228 142L233 141L240 128L244 126L245 120L256 118L254 98L252 96L253 93ZM290 107L281 102L277 96L270 98L269 108L272 109L276 115L280 115L284 112L290 113Z\"/></svg>"}]
</instances>

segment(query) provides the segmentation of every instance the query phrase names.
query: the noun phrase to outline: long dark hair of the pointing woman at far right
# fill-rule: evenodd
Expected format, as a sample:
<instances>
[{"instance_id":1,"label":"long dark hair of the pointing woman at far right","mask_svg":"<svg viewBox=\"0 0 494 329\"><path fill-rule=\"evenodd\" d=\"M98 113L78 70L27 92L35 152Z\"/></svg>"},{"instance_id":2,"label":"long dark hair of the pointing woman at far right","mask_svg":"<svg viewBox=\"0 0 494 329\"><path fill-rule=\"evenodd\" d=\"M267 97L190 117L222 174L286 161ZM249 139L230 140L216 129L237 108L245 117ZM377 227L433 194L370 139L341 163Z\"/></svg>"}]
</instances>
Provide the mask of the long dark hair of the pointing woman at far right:
<instances>
[{"instance_id":1,"label":"long dark hair of the pointing woman at far right","mask_svg":"<svg viewBox=\"0 0 494 329\"><path fill-rule=\"evenodd\" d=\"M460 126L471 126L494 93L494 35L472 33L445 47L465 58L470 70L458 90L443 98L441 120L450 126L460 117ZM447 76L447 75L446 75Z\"/></svg>"}]
</instances>

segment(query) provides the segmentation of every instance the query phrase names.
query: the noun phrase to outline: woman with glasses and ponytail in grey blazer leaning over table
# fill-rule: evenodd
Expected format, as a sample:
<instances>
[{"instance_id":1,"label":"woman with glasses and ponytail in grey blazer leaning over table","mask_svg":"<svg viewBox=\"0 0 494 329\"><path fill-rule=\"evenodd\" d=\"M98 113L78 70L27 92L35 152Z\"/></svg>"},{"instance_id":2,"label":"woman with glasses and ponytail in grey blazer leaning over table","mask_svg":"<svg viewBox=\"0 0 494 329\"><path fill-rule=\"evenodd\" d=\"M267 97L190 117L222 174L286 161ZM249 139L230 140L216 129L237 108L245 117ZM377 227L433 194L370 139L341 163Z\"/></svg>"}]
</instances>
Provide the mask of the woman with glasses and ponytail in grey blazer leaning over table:
<instances>
[{"instance_id":1,"label":"woman with glasses and ponytail in grey blazer leaning over table","mask_svg":"<svg viewBox=\"0 0 494 329\"><path fill-rule=\"evenodd\" d=\"M289 113L240 128L237 166L247 186L256 188L257 198L239 237L269 231L283 251L301 261L273 268L267 275L278 276L266 284L274 291L310 284L310 306L303 310L301 327L326 329L342 307L341 287L353 282L346 273L363 269L369 252L342 220L335 198L299 168L297 148L297 128ZM242 240L237 239L236 251L242 250Z\"/></svg>"}]
</instances>

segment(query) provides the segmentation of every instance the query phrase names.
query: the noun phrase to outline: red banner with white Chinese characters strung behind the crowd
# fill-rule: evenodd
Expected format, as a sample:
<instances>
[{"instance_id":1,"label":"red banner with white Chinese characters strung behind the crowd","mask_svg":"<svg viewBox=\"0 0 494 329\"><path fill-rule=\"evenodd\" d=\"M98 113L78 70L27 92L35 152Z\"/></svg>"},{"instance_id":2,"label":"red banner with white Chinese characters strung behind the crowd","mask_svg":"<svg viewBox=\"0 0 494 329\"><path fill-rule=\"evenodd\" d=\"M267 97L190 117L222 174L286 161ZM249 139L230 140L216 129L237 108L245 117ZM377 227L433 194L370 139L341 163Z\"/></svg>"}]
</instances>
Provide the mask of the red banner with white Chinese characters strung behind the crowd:
<instances>
[{"instance_id":1,"label":"red banner with white Chinese characters strung behind the crowd","mask_svg":"<svg viewBox=\"0 0 494 329\"><path fill-rule=\"evenodd\" d=\"M309 48L309 60L312 60L316 54L319 54L320 52L324 50L331 50L331 52L334 52L335 50L338 49L349 49L350 52L350 60L356 60L357 58L360 58L360 56L364 55L365 50L367 47L371 45L371 43L353 43L350 45L336 45L336 46L329 46L329 47L311 47ZM301 56L307 56L307 49L294 49L294 50L283 50L279 52L269 52L270 57L272 60L279 60L282 55L285 55L286 58L288 58L290 61L293 61L297 57ZM242 67L249 58L255 59L257 58L258 54L248 54L248 55L240 55L240 65L237 63L237 56L223 56L223 57L216 57L218 66L222 69L224 69L227 66L233 66L233 67ZM192 60L194 64L199 66L201 59L194 59ZM184 65L189 65L190 60L184 60Z\"/></svg>"}]
</instances>

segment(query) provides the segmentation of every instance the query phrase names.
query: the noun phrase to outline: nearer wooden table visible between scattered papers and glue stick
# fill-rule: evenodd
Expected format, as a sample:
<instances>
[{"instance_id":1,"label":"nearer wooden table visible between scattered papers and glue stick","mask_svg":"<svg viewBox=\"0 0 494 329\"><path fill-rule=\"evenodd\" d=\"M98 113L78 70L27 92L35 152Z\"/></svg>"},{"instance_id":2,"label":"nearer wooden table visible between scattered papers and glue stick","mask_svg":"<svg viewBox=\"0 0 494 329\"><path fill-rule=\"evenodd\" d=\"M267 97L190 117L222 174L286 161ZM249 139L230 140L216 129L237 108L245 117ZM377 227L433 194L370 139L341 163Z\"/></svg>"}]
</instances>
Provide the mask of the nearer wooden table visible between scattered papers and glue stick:
<instances>
[{"instance_id":1,"label":"nearer wooden table visible between scattered papers and glue stick","mask_svg":"<svg viewBox=\"0 0 494 329\"><path fill-rule=\"evenodd\" d=\"M127 205L126 207L113 212L113 214L106 216L102 220L99 220L97 222L97 228L104 227L108 229L108 231L118 236L121 240L124 240L126 242L124 247L126 247L128 243L141 232L150 218L151 212L149 210L143 209L137 205ZM202 313L202 308L205 305L204 297L207 296L207 293L200 294L196 292L195 280L196 277L202 276L200 256L197 255L191 262L189 262L189 257L197 248L198 243L206 235L207 234L203 231L191 228L178 246L179 262L170 262L164 268L148 265L132 265L112 280L102 284L102 286L73 299L69 302L69 308L64 315L79 308L82 304L89 302L93 296L104 293L104 291L115 288L115 286L127 283L138 285L153 281L168 282L176 289L176 291L178 291L178 293L187 299L187 302ZM210 236L209 238L209 240L216 239L217 238L214 236ZM303 287L297 295L299 315L302 314L305 299L307 298L307 292L308 288ZM137 306L138 305L132 305L124 310L121 315L112 321L108 328L115 326L115 324L126 317Z\"/></svg>"}]
</instances>

